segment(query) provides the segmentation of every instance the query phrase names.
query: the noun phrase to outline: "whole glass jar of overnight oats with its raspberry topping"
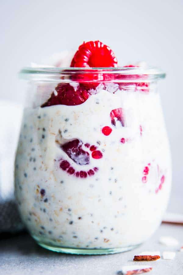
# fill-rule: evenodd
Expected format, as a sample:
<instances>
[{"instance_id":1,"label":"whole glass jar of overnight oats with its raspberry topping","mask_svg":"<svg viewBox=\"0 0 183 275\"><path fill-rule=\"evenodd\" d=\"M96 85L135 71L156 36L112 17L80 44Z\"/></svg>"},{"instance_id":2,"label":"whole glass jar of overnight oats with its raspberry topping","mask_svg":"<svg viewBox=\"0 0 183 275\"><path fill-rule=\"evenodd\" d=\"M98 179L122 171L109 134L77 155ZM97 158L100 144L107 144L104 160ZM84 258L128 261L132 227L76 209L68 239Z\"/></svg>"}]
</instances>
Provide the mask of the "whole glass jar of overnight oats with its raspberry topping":
<instances>
[{"instance_id":1,"label":"whole glass jar of overnight oats with its raspberry topping","mask_svg":"<svg viewBox=\"0 0 183 275\"><path fill-rule=\"evenodd\" d=\"M70 68L25 68L15 161L23 222L41 246L75 254L127 251L160 225L170 150L153 68L117 67L99 41Z\"/></svg>"}]
</instances>

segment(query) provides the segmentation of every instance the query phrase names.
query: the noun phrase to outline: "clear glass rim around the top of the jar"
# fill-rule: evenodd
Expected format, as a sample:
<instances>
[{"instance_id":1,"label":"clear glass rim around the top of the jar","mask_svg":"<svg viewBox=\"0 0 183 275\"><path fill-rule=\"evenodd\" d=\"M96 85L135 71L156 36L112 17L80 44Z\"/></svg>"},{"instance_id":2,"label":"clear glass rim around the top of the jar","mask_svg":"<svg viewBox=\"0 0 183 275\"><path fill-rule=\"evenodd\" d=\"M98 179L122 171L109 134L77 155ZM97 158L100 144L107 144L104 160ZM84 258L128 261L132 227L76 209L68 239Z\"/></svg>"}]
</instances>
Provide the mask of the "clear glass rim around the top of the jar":
<instances>
[{"instance_id":1,"label":"clear glass rim around the top of the jar","mask_svg":"<svg viewBox=\"0 0 183 275\"><path fill-rule=\"evenodd\" d=\"M159 68L154 67L105 67L105 68L61 68L61 67L24 67L20 70L19 76L21 79L44 81L46 75L48 81L58 80L58 76L73 76L73 75L121 75L126 76L129 80L132 76L138 75L138 81L146 76L148 81L163 79L166 74ZM126 80L127 80L126 78ZM93 81L93 80L92 80ZM96 81L96 80L94 80Z\"/></svg>"}]
</instances>

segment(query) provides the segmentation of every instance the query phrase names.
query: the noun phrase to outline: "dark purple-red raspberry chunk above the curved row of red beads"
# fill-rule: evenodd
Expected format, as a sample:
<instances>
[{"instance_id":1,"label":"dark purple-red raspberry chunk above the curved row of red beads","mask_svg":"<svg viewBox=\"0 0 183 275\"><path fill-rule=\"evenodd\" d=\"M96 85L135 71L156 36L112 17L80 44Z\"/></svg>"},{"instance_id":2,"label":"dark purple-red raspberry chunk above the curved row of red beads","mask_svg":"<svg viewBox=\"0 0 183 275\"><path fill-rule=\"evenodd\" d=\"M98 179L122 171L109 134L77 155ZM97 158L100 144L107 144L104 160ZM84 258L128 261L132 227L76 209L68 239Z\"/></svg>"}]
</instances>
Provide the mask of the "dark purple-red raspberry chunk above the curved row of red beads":
<instances>
[{"instance_id":1,"label":"dark purple-red raspberry chunk above the curved row of red beads","mask_svg":"<svg viewBox=\"0 0 183 275\"><path fill-rule=\"evenodd\" d=\"M77 164L86 165L90 162L89 153L82 149L83 142L74 139L61 146L63 151Z\"/></svg>"}]
</instances>

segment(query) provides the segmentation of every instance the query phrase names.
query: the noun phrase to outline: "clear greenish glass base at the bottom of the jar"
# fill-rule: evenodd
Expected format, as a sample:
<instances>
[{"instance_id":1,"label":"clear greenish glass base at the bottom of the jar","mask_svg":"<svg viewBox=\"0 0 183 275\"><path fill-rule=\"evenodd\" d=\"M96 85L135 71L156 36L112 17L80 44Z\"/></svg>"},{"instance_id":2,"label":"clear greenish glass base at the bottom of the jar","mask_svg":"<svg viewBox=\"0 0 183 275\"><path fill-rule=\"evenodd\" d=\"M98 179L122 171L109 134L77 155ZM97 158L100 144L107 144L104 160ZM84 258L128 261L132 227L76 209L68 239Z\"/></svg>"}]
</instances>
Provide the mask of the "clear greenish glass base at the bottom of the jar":
<instances>
[{"instance_id":1,"label":"clear greenish glass base at the bottom of the jar","mask_svg":"<svg viewBox=\"0 0 183 275\"><path fill-rule=\"evenodd\" d=\"M77 255L102 255L102 254L115 254L120 252L126 252L132 249L137 248L140 244L131 245L123 248L108 248L108 249L88 249L88 248L67 248L67 247L58 247L41 242L37 242L41 247L46 248L51 251L67 254L77 254Z\"/></svg>"}]
</instances>

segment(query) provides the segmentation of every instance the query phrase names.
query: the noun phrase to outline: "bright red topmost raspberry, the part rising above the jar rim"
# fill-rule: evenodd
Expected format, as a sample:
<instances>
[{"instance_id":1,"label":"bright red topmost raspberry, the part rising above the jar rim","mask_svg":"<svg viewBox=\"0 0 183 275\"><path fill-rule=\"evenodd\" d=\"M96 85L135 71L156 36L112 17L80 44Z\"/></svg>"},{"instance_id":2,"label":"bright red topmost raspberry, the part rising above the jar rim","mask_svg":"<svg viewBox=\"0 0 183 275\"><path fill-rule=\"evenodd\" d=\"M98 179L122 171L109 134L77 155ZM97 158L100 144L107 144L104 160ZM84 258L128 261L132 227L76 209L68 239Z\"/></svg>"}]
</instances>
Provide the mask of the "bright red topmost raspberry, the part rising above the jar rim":
<instances>
[{"instance_id":1,"label":"bright red topmost raspberry, the part rising above the jar rim","mask_svg":"<svg viewBox=\"0 0 183 275\"><path fill-rule=\"evenodd\" d=\"M83 42L70 67L117 67L117 59L113 51L99 40Z\"/></svg>"}]
</instances>

